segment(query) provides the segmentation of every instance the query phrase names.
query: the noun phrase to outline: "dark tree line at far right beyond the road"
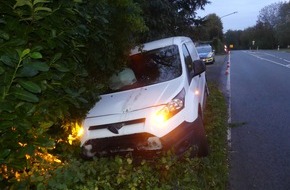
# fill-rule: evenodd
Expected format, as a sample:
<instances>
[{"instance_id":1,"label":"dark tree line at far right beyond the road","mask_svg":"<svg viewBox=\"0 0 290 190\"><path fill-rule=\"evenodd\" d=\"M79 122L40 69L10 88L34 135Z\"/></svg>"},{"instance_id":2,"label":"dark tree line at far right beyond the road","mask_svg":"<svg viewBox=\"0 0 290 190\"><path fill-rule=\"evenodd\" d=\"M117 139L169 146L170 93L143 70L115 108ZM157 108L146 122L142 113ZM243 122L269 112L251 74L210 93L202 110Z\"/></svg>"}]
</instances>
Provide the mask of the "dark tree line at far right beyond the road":
<instances>
[{"instance_id":1,"label":"dark tree line at far right beyond the road","mask_svg":"<svg viewBox=\"0 0 290 190\"><path fill-rule=\"evenodd\" d=\"M289 34L290 2L279 2L261 9L255 26L227 31L225 42L235 49L289 48Z\"/></svg>"}]
</instances>

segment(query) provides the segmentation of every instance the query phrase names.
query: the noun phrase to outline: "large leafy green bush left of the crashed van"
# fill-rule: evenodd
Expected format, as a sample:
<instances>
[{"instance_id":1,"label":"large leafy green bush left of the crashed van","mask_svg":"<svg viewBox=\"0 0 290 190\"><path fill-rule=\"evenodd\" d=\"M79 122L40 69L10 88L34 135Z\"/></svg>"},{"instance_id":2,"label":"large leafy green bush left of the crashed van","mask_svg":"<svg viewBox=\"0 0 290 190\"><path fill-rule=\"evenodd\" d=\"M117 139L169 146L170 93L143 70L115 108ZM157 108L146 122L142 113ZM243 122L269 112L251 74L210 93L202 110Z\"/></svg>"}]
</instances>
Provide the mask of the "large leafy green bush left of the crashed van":
<instances>
[{"instance_id":1,"label":"large leafy green bush left of the crashed van","mask_svg":"<svg viewBox=\"0 0 290 190\"><path fill-rule=\"evenodd\" d=\"M0 188L29 187L61 164L52 153L66 123L85 116L146 28L131 0L6 0L0 12Z\"/></svg>"}]
</instances>

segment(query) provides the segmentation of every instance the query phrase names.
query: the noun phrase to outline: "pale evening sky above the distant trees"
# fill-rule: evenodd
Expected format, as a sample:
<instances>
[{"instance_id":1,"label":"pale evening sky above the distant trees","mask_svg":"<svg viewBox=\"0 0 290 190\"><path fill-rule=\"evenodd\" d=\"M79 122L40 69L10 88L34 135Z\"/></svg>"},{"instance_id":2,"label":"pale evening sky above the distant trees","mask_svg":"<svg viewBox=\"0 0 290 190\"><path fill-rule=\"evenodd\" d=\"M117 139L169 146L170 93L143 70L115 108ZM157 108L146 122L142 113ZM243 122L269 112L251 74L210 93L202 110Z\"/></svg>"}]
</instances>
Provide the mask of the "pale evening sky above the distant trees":
<instances>
[{"instance_id":1,"label":"pale evening sky above the distant trees","mask_svg":"<svg viewBox=\"0 0 290 190\"><path fill-rule=\"evenodd\" d=\"M258 20L259 12L262 8L282 0L210 0L211 4L207 4L204 10L198 10L197 16L204 17L208 14L215 13L217 16L237 11L236 14L221 18L223 23L223 31L227 30L244 30L245 28L254 26ZM285 2L283 0L282 2ZM286 1L287 2L287 1Z\"/></svg>"}]
</instances>

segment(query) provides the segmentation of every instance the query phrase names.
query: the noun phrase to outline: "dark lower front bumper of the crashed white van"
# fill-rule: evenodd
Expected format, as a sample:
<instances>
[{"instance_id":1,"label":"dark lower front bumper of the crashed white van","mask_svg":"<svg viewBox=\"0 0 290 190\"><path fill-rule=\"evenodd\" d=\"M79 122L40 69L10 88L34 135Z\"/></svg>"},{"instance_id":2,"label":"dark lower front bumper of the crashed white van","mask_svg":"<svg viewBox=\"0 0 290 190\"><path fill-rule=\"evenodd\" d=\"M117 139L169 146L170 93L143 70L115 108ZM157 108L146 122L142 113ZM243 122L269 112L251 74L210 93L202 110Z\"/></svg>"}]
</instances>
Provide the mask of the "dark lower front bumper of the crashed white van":
<instances>
[{"instance_id":1,"label":"dark lower front bumper of the crashed white van","mask_svg":"<svg viewBox=\"0 0 290 190\"><path fill-rule=\"evenodd\" d=\"M159 138L150 133L90 139L83 145L83 154L87 157L94 155L110 155L118 153L160 153L173 149L177 154L187 150L194 139L197 120L189 123L182 122L167 135Z\"/></svg>"}]
</instances>

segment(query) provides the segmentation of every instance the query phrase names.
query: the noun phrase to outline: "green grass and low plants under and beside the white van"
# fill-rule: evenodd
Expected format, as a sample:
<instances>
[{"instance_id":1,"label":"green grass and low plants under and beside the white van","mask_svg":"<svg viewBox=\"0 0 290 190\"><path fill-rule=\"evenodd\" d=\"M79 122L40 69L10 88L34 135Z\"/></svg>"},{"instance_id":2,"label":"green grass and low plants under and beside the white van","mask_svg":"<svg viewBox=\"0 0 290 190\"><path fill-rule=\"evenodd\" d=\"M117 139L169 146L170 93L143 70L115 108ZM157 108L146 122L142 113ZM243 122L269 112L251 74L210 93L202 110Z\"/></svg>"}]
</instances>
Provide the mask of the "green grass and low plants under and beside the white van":
<instances>
[{"instance_id":1,"label":"green grass and low plants under and beside the white van","mask_svg":"<svg viewBox=\"0 0 290 190\"><path fill-rule=\"evenodd\" d=\"M35 172L26 183L36 189L226 189L227 106L217 85L209 84L205 127L210 154L190 158L189 152L176 159L170 153L155 160L142 160L128 155L84 161L73 154L56 169ZM75 147L75 151L79 147Z\"/></svg>"}]
</instances>

